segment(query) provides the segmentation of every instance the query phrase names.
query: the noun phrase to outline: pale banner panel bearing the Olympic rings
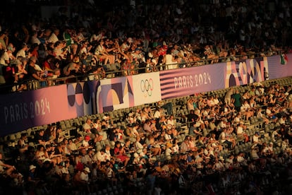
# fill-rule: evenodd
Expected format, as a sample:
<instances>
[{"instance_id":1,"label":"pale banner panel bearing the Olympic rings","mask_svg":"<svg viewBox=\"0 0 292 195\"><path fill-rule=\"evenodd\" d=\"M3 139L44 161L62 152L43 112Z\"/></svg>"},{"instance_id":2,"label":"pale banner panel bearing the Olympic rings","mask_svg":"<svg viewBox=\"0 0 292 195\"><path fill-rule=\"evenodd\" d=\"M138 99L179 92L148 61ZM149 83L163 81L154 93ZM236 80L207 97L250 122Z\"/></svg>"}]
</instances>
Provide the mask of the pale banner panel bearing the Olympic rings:
<instances>
[{"instance_id":1,"label":"pale banner panel bearing the Olympic rings","mask_svg":"<svg viewBox=\"0 0 292 195\"><path fill-rule=\"evenodd\" d=\"M135 106L162 100L159 72L132 76Z\"/></svg>"}]
</instances>

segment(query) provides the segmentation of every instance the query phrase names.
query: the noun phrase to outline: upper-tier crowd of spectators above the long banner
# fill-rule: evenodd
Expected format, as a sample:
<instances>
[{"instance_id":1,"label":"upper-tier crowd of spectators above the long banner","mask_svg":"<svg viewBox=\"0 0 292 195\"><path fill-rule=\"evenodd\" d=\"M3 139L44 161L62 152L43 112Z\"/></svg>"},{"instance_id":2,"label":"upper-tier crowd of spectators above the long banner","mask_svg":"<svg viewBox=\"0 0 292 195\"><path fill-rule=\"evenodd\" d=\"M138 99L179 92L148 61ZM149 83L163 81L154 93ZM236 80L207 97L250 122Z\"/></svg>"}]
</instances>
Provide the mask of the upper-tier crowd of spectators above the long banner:
<instances>
[{"instance_id":1,"label":"upper-tier crowd of spectators above the long banner","mask_svg":"<svg viewBox=\"0 0 292 195\"><path fill-rule=\"evenodd\" d=\"M288 1L112 3L69 1L51 18L41 18L33 4L29 17L17 10L18 20L4 11L1 83L23 90L31 88L27 81L46 86L64 76L127 76L291 49Z\"/></svg>"}]
</instances>

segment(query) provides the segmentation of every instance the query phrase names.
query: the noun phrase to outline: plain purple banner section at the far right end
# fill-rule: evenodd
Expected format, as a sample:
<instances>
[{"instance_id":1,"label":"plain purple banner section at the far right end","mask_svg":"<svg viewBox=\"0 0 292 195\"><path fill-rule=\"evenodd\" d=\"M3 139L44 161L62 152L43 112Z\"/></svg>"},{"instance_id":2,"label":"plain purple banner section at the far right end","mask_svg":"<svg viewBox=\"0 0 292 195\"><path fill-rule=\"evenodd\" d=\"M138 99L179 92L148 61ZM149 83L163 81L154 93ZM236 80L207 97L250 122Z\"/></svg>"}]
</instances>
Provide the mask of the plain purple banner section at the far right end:
<instances>
[{"instance_id":1,"label":"plain purple banner section at the far right end","mask_svg":"<svg viewBox=\"0 0 292 195\"><path fill-rule=\"evenodd\" d=\"M292 54L286 54L286 57L284 56L282 59L281 56L269 57L268 64L269 79L292 76Z\"/></svg>"}]
</instances>

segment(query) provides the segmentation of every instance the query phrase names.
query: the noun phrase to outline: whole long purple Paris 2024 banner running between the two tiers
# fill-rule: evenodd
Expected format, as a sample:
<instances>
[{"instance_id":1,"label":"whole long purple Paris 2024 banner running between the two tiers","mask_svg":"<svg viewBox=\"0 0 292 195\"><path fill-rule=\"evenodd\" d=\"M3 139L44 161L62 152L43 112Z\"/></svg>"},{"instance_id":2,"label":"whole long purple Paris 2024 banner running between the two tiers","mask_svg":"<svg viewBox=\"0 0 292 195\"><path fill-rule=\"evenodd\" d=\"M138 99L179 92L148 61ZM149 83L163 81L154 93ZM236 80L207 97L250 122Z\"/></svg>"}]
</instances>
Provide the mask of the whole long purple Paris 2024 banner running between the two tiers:
<instances>
[{"instance_id":1,"label":"whole long purple Paris 2024 banner running between the two tiers","mask_svg":"<svg viewBox=\"0 0 292 195\"><path fill-rule=\"evenodd\" d=\"M162 99L292 76L292 54L0 95L0 136Z\"/></svg>"}]
</instances>

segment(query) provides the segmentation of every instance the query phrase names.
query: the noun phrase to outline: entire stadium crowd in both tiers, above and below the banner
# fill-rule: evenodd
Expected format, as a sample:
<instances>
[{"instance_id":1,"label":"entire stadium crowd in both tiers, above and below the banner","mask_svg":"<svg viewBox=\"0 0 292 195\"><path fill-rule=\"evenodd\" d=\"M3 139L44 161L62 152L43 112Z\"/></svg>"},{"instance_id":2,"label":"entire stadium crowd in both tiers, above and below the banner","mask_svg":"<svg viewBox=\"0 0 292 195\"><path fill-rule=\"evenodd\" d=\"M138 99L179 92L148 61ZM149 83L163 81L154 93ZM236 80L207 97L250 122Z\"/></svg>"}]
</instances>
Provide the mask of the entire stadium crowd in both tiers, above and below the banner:
<instances>
[{"instance_id":1,"label":"entire stadium crowd in both tiers, above and below the banner","mask_svg":"<svg viewBox=\"0 0 292 195\"><path fill-rule=\"evenodd\" d=\"M109 71L127 76L290 52L288 1L130 2L103 11L80 1L70 17L62 7L49 20L32 14L21 26L4 16L5 83L24 90L22 81L54 85L49 78L100 79ZM157 102L116 119L88 116L70 134L50 124L23 132L16 146L8 146L8 136L1 193L288 194L291 85L268 84Z\"/></svg>"}]
</instances>

